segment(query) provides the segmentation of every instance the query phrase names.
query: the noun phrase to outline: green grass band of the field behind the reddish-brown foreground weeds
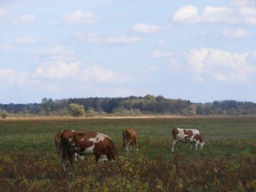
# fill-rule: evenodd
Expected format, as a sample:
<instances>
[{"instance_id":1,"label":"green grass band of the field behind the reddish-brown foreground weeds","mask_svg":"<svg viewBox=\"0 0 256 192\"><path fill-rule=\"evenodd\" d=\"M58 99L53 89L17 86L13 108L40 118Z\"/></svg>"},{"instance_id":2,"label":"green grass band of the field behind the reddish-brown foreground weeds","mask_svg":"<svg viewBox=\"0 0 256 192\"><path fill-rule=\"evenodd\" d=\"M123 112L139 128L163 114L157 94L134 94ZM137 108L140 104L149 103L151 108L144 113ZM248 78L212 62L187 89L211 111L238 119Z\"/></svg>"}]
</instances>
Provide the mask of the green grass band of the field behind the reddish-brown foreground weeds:
<instances>
[{"instance_id":1,"label":"green grass band of the field behind the reddish-brown foreground weeds","mask_svg":"<svg viewBox=\"0 0 256 192\"><path fill-rule=\"evenodd\" d=\"M0 152L42 150L54 154L56 132L75 129L108 134L120 154L124 154L121 150L122 131L127 127L138 131L140 152L148 157L163 156L165 159L172 156L173 127L200 130L207 143L204 154L209 156L225 155L230 150L239 153L244 148L253 150L250 143L256 138L256 118L253 117L1 120ZM243 146L236 146L237 143ZM189 145L179 143L177 147L180 153L189 151Z\"/></svg>"}]
</instances>

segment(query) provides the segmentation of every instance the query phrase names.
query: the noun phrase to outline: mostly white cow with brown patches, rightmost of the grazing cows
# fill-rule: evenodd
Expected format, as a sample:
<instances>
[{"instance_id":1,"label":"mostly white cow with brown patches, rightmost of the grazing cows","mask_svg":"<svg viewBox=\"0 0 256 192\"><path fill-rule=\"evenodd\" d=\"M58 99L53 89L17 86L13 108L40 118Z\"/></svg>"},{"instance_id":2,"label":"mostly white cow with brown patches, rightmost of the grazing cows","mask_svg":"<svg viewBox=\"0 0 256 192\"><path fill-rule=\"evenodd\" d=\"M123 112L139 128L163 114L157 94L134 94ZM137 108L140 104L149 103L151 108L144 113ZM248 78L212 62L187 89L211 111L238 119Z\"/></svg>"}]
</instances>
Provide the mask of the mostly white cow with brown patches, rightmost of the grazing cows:
<instances>
[{"instance_id":1,"label":"mostly white cow with brown patches, rightmost of the grazing cows","mask_svg":"<svg viewBox=\"0 0 256 192\"><path fill-rule=\"evenodd\" d=\"M172 152L177 145L178 141L182 141L182 143L189 143L190 148L195 144L195 150L197 150L197 146L200 145L200 149L204 147L205 143L202 140L202 136L197 129L180 129L174 128L172 130ZM177 147L176 147L177 149Z\"/></svg>"}]
</instances>

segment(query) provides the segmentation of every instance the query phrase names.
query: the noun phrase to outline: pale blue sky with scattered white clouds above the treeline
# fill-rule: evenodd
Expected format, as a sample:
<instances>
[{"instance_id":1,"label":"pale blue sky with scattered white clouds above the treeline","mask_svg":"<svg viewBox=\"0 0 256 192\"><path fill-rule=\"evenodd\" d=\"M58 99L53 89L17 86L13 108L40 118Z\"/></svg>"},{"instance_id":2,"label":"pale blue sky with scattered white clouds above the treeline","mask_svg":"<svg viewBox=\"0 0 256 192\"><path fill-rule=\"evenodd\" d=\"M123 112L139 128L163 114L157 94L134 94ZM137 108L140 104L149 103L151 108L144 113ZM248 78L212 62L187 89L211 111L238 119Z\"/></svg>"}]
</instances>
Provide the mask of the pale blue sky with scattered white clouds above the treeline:
<instances>
[{"instance_id":1,"label":"pale blue sky with scattered white clouds above the treeline","mask_svg":"<svg viewBox=\"0 0 256 192\"><path fill-rule=\"evenodd\" d=\"M256 102L256 1L1 0L0 103Z\"/></svg>"}]
</instances>

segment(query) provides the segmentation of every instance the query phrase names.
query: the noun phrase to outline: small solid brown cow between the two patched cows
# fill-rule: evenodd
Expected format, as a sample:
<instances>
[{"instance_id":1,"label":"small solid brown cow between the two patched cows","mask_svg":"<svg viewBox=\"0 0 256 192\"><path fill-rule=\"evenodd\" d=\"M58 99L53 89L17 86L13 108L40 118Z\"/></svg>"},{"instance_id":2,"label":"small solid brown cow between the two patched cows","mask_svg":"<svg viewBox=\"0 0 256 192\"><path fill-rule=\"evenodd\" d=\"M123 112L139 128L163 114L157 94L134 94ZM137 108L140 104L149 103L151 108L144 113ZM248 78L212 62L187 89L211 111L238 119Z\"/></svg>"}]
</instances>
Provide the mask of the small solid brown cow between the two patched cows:
<instances>
[{"instance_id":1,"label":"small solid brown cow between the two patched cows","mask_svg":"<svg viewBox=\"0 0 256 192\"><path fill-rule=\"evenodd\" d=\"M130 150L138 150L138 134L134 129L125 129L123 132L123 149L126 148L127 152Z\"/></svg>"}]
</instances>

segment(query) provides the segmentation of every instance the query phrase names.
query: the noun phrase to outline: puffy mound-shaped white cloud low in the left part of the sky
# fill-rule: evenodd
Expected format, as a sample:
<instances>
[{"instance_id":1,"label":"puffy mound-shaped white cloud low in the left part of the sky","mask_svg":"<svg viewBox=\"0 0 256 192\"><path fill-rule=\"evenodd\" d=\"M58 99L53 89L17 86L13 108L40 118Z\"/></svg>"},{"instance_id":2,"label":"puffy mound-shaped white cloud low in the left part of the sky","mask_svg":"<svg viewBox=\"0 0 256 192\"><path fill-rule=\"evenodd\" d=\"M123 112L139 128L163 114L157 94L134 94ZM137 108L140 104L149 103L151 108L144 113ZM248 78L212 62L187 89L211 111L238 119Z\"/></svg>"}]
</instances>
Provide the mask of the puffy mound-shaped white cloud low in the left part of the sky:
<instances>
[{"instance_id":1,"label":"puffy mound-shaped white cloud low in the left part of the sky","mask_svg":"<svg viewBox=\"0 0 256 192\"><path fill-rule=\"evenodd\" d=\"M79 62L67 63L61 60L61 57L47 61L36 68L33 77L44 77L47 79L65 79L76 77L79 71Z\"/></svg>"}]
</instances>

